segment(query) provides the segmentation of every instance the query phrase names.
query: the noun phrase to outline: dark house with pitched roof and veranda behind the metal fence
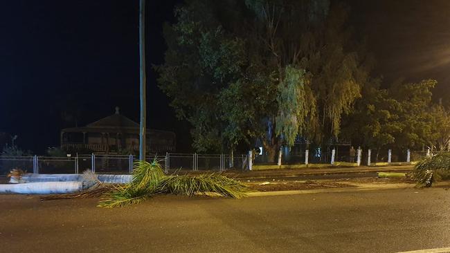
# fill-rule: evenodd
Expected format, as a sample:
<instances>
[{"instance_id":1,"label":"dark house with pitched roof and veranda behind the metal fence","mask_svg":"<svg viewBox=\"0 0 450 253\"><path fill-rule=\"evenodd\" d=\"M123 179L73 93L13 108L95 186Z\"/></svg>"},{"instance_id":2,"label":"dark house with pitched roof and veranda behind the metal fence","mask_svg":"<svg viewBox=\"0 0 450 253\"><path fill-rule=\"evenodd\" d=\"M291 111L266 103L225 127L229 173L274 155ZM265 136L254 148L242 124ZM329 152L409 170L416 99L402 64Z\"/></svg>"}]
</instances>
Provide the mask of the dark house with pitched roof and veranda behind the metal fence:
<instances>
[{"instance_id":1,"label":"dark house with pitched roof and veranda behind the metal fence","mask_svg":"<svg viewBox=\"0 0 450 253\"><path fill-rule=\"evenodd\" d=\"M147 153L175 150L175 133L147 129ZM139 124L116 113L86 127L62 129L61 149L68 153L129 154L139 151Z\"/></svg>"}]
</instances>

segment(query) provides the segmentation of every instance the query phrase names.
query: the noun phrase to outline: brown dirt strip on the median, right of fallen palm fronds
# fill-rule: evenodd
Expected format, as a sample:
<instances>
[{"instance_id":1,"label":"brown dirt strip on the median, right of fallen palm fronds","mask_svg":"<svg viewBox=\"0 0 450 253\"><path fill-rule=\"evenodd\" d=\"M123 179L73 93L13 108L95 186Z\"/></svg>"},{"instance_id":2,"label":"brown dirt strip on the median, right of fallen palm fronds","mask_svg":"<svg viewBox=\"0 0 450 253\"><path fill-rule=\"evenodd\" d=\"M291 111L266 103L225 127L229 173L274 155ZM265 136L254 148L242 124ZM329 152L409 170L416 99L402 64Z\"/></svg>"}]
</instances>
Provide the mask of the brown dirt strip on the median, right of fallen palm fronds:
<instances>
[{"instance_id":1,"label":"brown dirt strip on the median, right of fallen palm fronds","mask_svg":"<svg viewBox=\"0 0 450 253\"><path fill-rule=\"evenodd\" d=\"M260 182L248 184L255 191L291 191L302 189L327 189L356 187L341 182L294 181L294 182Z\"/></svg>"}]
</instances>

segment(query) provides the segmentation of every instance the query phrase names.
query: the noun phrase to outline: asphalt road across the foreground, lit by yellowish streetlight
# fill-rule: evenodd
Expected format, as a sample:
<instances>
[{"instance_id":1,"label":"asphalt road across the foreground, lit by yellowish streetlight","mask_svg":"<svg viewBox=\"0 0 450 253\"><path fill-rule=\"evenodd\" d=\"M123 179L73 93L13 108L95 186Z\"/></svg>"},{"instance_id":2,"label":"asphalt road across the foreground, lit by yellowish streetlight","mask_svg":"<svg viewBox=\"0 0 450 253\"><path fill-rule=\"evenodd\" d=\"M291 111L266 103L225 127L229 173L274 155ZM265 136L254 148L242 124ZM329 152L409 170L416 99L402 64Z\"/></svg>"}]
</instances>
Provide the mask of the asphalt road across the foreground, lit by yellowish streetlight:
<instances>
[{"instance_id":1,"label":"asphalt road across the foreground, lit by yellowish streetlight","mask_svg":"<svg viewBox=\"0 0 450 253\"><path fill-rule=\"evenodd\" d=\"M450 247L450 191L224 198L0 196L0 252L404 252Z\"/></svg>"}]
</instances>

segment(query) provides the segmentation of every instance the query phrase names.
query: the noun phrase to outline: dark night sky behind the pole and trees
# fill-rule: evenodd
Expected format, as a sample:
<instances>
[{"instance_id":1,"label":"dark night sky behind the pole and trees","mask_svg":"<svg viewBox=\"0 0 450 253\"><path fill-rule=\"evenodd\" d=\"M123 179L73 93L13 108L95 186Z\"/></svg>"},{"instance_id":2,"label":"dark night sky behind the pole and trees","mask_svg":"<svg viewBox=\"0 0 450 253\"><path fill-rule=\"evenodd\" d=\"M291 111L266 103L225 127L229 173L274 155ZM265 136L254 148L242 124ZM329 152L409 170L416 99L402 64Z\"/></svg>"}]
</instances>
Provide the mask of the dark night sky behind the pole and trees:
<instances>
[{"instance_id":1,"label":"dark night sky behind the pole and trees","mask_svg":"<svg viewBox=\"0 0 450 253\"><path fill-rule=\"evenodd\" d=\"M178 122L156 87L150 64L163 61L161 28L181 0L147 1L147 113L151 128L177 133L190 146L188 124ZM450 1L348 0L357 36L366 37L384 85L406 77L438 79L447 100ZM0 131L42 153L59 144L74 123L62 111L79 109L80 124L114 113L138 121L138 0L3 0L0 2Z\"/></svg>"}]
</instances>

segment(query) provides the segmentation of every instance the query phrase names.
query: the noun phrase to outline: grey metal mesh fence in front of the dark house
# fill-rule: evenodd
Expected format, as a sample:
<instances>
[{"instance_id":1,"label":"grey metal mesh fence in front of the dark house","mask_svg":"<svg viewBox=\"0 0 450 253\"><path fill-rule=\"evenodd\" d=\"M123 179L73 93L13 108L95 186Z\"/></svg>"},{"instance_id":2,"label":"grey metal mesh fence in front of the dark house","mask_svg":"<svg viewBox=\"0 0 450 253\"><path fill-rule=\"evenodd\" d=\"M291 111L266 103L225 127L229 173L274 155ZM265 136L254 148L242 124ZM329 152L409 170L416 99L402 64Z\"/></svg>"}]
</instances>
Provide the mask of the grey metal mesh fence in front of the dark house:
<instances>
[{"instance_id":1,"label":"grey metal mesh fence in front of the dark house","mask_svg":"<svg viewBox=\"0 0 450 253\"><path fill-rule=\"evenodd\" d=\"M246 169L245 155L230 157L225 154L198 153L154 153L146 156L147 161L157 160L166 171L177 170L212 170ZM129 174L133 171L136 156L122 155L78 155L68 157L47 156L0 156L0 174L6 174L12 169L22 169L35 174L80 174L90 170L99 174Z\"/></svg>"}]
</instances>

